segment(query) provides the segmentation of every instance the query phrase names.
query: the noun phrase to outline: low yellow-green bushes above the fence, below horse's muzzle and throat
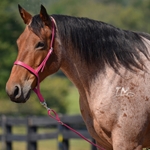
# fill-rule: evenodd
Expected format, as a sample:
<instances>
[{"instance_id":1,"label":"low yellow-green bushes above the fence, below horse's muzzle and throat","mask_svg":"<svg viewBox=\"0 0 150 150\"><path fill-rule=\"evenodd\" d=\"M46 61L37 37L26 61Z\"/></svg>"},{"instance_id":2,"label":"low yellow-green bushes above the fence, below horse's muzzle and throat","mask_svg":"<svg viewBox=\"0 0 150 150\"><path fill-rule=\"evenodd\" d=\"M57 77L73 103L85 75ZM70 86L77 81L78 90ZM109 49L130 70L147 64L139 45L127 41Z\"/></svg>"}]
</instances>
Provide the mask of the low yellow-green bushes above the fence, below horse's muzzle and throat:
<instances>
[{"instance_id":1,"label":"low yellow-green bushes above the fence, below horse's muzzle and throat","mask_svg":"<svg viewBox=\"0 0 150 150\"><path fill-rule=\"evenodd\" d=\"M67 96L70 93L72 84L66 78L52 76L41 83L41 93L45 98L48 107L55 111L67 113L69 101ZM10 105L11 104L11 105ZM40 101L33 92L30 99L23 104L12 103L11 101L0 100L0 114L11 115L46 115L47 111L40 105Z\"/></svg>"}]
</instances>

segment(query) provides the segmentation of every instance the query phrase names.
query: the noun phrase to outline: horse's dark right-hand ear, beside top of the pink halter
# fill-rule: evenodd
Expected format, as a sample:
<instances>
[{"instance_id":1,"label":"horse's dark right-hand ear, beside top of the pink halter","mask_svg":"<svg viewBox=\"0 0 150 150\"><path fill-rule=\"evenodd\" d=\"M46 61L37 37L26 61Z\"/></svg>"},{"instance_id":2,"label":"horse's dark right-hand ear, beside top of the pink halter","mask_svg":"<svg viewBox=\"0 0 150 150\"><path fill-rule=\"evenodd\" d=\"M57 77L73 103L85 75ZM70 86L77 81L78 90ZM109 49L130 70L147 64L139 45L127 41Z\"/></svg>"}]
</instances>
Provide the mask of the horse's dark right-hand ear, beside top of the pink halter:
<instances>
[{"instance_id":1,"label":"horse's dark right-hand ear, beside top of the pink halter","mask_svg":"<svg viewBox=\"0 0 150 150\"><path fill-rule=\"evenodd\" d=\"M46 26L51 27L51 19L43 5L41 5L40 17Z\"/></svg>"}]
</instances>

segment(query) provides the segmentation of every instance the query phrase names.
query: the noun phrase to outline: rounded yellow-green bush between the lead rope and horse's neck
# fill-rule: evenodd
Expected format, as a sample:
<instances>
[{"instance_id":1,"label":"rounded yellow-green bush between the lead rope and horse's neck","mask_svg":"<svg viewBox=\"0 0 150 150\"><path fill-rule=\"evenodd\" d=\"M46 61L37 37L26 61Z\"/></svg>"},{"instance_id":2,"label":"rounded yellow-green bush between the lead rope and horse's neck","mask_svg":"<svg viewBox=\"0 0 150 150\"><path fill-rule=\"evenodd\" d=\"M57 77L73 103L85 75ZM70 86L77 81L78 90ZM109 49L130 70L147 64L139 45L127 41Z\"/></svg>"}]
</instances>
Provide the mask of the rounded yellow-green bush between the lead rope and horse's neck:
<instances>
[{"instance_id":1,"label":"rounded yellow-green bush between the lead rope and horse's neck","mask_svg":"<svg viewBox=\"0 0 150 150\"><path fill-rule=\"evenodd\" d=\"M44 98L47 100L48 106L53 107L60 113L66 113L68 105L66 98L70 91L71 84L66 78L57 76L49 78L49 84L47 84L48 82L43 81L41 86Z\"/></svg>"}]
</instances>

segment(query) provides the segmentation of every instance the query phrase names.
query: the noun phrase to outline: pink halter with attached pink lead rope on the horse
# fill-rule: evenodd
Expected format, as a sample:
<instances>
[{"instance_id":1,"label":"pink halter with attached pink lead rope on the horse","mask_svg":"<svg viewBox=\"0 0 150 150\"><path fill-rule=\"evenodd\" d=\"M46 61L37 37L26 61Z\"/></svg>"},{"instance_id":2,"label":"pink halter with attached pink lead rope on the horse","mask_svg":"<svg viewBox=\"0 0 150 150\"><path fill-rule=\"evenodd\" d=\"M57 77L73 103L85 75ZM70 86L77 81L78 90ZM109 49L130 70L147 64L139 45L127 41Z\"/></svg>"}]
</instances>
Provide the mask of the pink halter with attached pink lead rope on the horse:
<instances>
[{"instance_id":1,"label":"pink halter with attached pink lead rope on the horse","mask_svg":"<svg viewBox=\"0 0 150 150\"><path fill-rule=\"evenodd\" d=\"M25 64L24 62L21 62L19 60L16 60L14 62L14 65L19 65L24 67L25 69L29 70L31 73L33 73L36 78L37 78L37 86L33 89L33 91L36 93L36 95L38 96L40 103L47 109L48 115L55 119L58 123L60 123L61 125L67 127L68 129L70 129L71 131L73 131L74 133L76 133L78 136L80 136L81 138L83 138L85 141L89 142L90 144L94 145L95 147L101 149L101 150L105 150L104 148L100 147L99 145L91 142L90 140L88 140L87 138L85 138L82 134L80 134L79 132L77 132L76 130L74 130L73 128L71 128L70 126L68 126L67 124L63 123L58 114L53 110L50 109L49 107L47 107L47 103L45 102L41 92L40 92L40 78L39 78L39 72L42 72L45 68L46 62L49 59L51 53L53 52L53 45L54 45L54 37L55 37L55 23L54 23L54 19L51 17L51 21L52 21L52 39L51 39L51 43L50 43L50 49L45 57L45 59L42 61L42 63L39 65L39 67L37 69L33 69L32 67L30 67L29 65ZM51 114L51 112L53 114Z\"/></svg>"}]
</instances>

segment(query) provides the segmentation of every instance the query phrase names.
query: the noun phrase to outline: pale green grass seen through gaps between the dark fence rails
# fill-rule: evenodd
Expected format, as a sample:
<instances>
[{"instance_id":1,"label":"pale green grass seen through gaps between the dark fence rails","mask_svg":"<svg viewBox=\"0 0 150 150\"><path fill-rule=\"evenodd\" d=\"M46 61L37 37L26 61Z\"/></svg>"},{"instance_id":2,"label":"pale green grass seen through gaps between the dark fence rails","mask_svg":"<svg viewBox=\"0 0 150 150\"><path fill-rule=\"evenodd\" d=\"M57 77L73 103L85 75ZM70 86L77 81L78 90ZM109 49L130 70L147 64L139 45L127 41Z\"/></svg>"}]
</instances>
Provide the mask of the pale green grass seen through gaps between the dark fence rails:
<instances>
[{"instance_id":1,"label":"pale green grass seen through gaps between the dark fence rails","mask_svg":"<svg viewBox=\"0 0 150 150\"><path fill-rule=\"evenodd\" d=\"M45 133L49 132L50 129L39 129L38 133ZM0 133L2 131L0 130ZM19 127L13 127L12 130L13 134L26 134L26 128L23 126ZM70 140L70 150L90 150L90 144L82 139L72 139ZM4 150L3 143L0 142L0 150ZM13 142L12 145L13 150L26 150L27 149L27 143L26 142ZM57 139L52 140L41 140L38 141L38 150L58 150L58 143Z\"/></svg>"}]
</instances>

